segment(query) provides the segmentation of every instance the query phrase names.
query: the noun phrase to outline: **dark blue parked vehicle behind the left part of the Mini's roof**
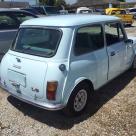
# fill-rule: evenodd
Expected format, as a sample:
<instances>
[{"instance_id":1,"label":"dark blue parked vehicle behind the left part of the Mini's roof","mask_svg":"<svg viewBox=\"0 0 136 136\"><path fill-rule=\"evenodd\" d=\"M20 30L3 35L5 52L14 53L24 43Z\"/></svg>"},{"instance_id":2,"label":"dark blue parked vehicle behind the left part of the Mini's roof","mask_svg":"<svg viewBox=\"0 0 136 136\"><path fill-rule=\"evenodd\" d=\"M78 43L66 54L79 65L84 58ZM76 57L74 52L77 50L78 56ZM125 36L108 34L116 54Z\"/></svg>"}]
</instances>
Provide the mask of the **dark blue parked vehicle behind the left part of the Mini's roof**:
<instances>
[{"instance_id":1,"label":"dark blue parked vehicle behind the left part of the Mini's roof","mask_svg":"<svg viewBox=\"0 0 136 136\"><path fill-rule=\"evenodd\" d=\"M37 10L41 15L60 14L59 10L61 10L55 6L32 6L31 8Z\"/></svg>"}]
</instances>

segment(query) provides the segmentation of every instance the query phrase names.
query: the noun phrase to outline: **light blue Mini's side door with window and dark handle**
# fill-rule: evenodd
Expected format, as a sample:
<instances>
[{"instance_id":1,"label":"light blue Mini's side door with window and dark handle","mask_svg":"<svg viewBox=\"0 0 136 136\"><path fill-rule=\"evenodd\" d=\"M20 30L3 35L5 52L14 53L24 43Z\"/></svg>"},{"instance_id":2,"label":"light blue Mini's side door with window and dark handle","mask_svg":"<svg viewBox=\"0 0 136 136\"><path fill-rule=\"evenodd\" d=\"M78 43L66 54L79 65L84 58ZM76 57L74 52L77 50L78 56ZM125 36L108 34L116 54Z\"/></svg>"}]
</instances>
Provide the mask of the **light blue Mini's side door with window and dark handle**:
<instances>
[{"instance_id":1,"label":"light blue Mini's side door with window and dark handle","mask_svg":"<svg viewBox=\"0 0 136 136\"><path fill-rule=\"evenodd\" d=\"M111 80L126 69L125 62L126 59L128 60L128 47L125 42L126 36L120 22L105 24L105 39L109 57L108 79Z\"/></svg>"}]
</instances>

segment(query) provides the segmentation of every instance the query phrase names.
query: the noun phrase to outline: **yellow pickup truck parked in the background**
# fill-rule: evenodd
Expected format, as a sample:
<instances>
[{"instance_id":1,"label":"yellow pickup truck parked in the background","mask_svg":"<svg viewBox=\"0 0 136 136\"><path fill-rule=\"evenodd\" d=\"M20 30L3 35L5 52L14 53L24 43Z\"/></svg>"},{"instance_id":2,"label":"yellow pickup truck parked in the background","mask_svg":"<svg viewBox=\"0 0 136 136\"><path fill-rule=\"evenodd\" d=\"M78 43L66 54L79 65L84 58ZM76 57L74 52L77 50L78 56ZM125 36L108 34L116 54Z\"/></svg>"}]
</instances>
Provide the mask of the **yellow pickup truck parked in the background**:
<instances>
[{"instance_id":1,"label":"yellow pickup truck parked in the background","mask_svg":"<svg viewBox=\"0 0 136 136\"><path fill-rule=\"evenodd\" d=\"M121 8L107 8L106 10L106 15L113 15L121 18L122 22L125 25L132 25L134 22L134 17L132 14L128 14L125 9Z\"/></svg>"}]
</instances>

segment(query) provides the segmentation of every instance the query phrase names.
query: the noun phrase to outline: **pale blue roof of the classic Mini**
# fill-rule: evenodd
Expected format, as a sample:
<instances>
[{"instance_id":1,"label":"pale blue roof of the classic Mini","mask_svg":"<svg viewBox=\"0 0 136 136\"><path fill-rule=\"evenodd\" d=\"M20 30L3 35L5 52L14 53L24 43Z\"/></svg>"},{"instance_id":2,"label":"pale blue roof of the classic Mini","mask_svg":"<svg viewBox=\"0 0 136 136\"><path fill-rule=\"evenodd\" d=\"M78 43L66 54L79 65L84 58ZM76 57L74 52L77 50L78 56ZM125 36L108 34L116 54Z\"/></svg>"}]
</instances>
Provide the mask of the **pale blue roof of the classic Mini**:
<instances>
[{"instance_id":1,"label":"pale blue roof of the classic Mini","mask_svg":"<svg viewBox=\"0 0 136 136\"><path fill-rule=\"evenodd\" d=\"M24 25L39 25L39 26L78 26L89 23L120 20L118 17L108 15L89 15L89 14L72 14L72 15L56 15L46 16L36 19L24 21L21 26Z\"/></svg>"}]
</instances>

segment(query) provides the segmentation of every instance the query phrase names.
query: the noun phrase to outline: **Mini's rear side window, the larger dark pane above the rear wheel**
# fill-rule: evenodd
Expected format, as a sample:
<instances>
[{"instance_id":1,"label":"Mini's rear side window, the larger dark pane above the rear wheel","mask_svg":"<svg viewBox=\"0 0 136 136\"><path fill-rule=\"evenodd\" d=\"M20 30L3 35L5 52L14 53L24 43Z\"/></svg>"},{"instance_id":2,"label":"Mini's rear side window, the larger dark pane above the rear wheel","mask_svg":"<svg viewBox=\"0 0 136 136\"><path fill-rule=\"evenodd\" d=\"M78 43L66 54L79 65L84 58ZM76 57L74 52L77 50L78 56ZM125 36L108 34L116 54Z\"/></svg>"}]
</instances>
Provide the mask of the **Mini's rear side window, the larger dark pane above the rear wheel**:
<instances>
[{"instance_id":1,"label":"Mini's rear side window, the larger dark pane above the rear wheel","mask_svg":"<svg viewBox=\"0 0 136 136\"><path fill-rule=\"evenodd\" d=\"M93 25L78 29L74 52L82 55L104 47L103 30L101 25Z\"/></svg>"}]
</instances>

